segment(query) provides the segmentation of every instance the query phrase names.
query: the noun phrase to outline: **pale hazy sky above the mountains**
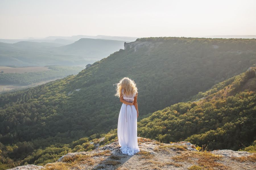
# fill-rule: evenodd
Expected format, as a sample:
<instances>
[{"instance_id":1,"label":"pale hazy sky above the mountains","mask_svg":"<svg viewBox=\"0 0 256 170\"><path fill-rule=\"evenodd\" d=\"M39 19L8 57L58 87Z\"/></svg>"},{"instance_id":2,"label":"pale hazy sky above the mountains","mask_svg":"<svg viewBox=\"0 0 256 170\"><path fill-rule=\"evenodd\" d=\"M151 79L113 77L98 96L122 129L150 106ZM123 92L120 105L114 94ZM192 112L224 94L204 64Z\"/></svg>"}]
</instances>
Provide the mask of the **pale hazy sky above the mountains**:
<instances>
[{"instance_id":1,"label":"pale hazy sky above the mountains","mask_svg":"<svg viewBox=\"0 0 256 170\"><path fill-rule=\"evenodd\" d=\"M256 35L256 0L0 0L0 39Z\"/></svg>"}]
</instances>

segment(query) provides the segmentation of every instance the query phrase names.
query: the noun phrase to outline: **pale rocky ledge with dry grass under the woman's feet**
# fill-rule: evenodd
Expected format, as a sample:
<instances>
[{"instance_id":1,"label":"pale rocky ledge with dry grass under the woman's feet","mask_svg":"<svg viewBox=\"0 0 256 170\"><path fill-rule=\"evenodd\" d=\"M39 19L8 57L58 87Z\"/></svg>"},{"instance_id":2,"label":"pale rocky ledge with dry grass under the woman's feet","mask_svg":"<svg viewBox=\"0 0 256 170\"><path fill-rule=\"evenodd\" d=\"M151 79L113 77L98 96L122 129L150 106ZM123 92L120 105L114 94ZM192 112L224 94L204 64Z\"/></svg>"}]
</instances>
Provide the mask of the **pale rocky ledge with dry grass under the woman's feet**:
<instances>
[{"instance_id":1,"label":"pale rocky ledge with dry grass under the woman's feet","mask_svg":"<svg viewBox=\"0 0 256 170\"><path fill-rule=\"evenodd\" d=\"M233 150L198 151L189 142L160 143L138 137L140 152L129 156L119 148L118 139L90 152L68 153L44 167L26 165L19 169L255 169L256 154ZM198 149L198 150L197 150ZM31 166L31 168L30 168ZM32 167L33 166L33 167Z\"/></svg>"}]
</instances>

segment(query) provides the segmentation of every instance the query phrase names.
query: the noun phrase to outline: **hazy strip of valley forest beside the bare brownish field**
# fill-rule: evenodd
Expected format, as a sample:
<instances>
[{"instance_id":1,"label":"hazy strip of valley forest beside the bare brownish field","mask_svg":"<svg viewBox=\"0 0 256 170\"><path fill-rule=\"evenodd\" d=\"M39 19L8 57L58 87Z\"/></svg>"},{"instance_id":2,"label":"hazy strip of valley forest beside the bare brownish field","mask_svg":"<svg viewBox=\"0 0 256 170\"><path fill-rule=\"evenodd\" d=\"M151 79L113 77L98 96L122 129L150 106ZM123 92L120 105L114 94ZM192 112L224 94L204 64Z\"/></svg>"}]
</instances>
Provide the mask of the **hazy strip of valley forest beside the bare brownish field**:
<instances>
[{"instance_id":1,"label":"hazy strip of valley forest beside the bare brownish field","mask_svg":"<svg viewBox=\"0 0 256 170\"><path fill-rule=\"evenodd\" d=\"M50 70L29 73L1 73L0 84L29 85L54 78L76 75L83 67L78 66L48 66Z\"/></svg>"}]
</instances>

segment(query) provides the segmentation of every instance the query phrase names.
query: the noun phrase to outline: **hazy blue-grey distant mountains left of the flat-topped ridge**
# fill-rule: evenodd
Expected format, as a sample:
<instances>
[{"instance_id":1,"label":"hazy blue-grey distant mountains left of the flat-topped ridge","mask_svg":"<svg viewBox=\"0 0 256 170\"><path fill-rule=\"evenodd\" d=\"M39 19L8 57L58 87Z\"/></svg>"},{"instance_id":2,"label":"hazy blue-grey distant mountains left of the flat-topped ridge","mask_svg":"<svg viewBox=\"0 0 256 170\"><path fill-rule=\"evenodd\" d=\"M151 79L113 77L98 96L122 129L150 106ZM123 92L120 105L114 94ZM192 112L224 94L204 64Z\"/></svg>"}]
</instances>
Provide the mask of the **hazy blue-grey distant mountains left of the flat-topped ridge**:
<instances>
[{"instance_id":1,"label":"hazy blue-grey distant mountains left of the flat-topped ridge","mask_svg":"<svg viewBox=\"0 0 256 170\"><path fill-rule=\"evenodd\" d=\"M81 38L68 45L70 40L53 42L19 41L0 42L0 65L44 66L92 64L115 51L124 48L125 41ZM58 43L57 43L58 42ZM127 41L128 42L128 41Z\"/></svg>"}]
</instances>

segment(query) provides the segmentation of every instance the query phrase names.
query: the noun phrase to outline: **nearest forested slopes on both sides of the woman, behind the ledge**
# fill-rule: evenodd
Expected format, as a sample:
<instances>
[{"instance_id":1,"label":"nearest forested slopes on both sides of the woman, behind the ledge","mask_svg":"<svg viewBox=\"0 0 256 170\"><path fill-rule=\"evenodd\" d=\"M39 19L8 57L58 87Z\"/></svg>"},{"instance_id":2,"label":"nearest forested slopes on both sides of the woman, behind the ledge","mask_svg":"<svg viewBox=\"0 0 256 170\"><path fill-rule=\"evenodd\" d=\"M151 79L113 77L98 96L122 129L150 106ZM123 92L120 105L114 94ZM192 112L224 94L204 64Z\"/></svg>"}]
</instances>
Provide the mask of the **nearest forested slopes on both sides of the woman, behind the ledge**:
<instances>
[{"instance_id":1,"label":"nearest forested slopes on both sides of the woman, behind the ledge","mask_svg":"<svg viewBox=\"0 0 256 170\"><path fill-rule=\"evenodd\" d=\"M193 97L198 99L203 94L204 99L177 103L152 113L138 122L138 136L166 143L181 139L198 146L207 144L209 149L256 152L255 71L256 68L251 67L245 73L220 82ZM51 139L36 139L12 145L0 143L0 158L5 160L0 162L0 169L10 168L14 164L45 165L55 162L55 159L68 152L91 151L115 139L117 129L67 144L55 142L47 147L46 143Z\"/></svg>"}]
</instances>

